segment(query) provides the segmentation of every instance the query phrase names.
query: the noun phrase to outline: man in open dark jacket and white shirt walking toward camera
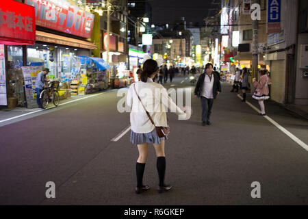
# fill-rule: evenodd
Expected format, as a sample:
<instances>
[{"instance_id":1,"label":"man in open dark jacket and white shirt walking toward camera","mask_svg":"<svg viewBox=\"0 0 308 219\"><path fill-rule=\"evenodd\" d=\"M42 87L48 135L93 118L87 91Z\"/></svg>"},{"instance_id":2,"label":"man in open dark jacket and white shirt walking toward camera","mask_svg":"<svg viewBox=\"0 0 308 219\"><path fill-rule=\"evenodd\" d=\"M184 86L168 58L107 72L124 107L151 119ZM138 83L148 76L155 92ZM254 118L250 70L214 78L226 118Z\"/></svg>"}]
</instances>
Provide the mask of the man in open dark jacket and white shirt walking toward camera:
<instances>
[{"instance_id":1,"label":"man in open dark jacket and white shirt walking toward camera","mask_svg":"<svg viewBox=\"0 0 308 219\"><path fill-rule=\"evenodd\" d=\"M208 63L205 66L205 72L200 75L194 95L201 98L202 105L202 125L211 125L209 120L211 116L211 109L213 107L214 99L221 92L220 76L213 73L213 65Z\"/></svg>"}]
</instances>

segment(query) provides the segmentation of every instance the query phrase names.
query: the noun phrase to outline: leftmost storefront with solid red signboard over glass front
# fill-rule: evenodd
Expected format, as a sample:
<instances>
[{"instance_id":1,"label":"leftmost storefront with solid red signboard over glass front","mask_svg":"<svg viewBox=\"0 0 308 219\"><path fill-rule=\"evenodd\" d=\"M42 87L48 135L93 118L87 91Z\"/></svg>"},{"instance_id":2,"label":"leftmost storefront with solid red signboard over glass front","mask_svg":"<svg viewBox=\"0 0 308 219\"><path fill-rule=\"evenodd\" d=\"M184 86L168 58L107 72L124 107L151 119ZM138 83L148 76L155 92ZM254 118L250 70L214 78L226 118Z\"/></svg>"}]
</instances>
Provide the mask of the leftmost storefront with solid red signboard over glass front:
<instances>
[{"instance_id":1,"label":"leftmost storefront with solid red signboard over glass front","mask_svg":"<svg viewBox=\"0 0 308 219\"><path fill-rule=\"evenodd\" d=\"M25 104L21 66L27 58L25 45L36 40L35 10L16 1L1 1L0 16L0 107L12 108Z\"/></svg>"}]
</instances>

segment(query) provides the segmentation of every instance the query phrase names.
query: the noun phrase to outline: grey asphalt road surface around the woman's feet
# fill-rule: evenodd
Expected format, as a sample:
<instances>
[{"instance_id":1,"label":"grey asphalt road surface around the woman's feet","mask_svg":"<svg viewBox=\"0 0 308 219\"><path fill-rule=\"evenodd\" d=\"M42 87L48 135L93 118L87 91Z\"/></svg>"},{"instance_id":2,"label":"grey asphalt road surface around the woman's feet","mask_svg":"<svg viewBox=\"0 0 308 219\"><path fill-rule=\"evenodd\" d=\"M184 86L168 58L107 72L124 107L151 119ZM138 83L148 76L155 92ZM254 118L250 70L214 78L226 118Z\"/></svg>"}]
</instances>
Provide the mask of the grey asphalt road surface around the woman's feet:
<instances>
[{"instance_id":1,"label":"grey asphalt road surface around the woman's feet","mask_svg":"<svg viewBox=\"0 0 308 219\"><path fill-rule=\"evenodd\" d=\"M172 88L193 90L187 77L177 77ZM269 118L296 142L230 89L224 84L214 102L211 126L201 126L201 103L193 96L190 120L168 114L166 183L173 188L164 194L155 190L153 146L144 172L151 190L134 193L138 151L130 131L120 135L129 114L118 112L122 97L115 90L0 124L0 204L307 205L307 120L266 103ZM55 198L45 195L49 181ZM261 198L252 198L253 182Z\"/></svg>"}]
</instances>

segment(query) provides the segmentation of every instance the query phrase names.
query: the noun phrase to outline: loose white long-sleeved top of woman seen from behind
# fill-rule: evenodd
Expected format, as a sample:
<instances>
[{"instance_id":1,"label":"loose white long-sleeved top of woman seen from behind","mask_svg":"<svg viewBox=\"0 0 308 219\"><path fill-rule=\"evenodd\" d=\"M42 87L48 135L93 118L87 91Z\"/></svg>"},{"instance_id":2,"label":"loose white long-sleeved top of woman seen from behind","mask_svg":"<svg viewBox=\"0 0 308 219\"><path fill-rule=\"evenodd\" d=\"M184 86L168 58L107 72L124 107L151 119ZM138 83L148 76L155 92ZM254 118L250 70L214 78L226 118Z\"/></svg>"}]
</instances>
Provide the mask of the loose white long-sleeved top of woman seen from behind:
<instances>
[{"instance_id":1,"label":"loose white long-sleeved top of woman seen from behind","mask_svg":"<svg viewBox=\"0 0 308 219\"><path fill-rule=\"evenodd\" d=\"M142 104L151 115L157 127L167 127L168 109L179 115L179 120L187 120L188 115L183 112L168 96L168 92L164 86L159 83L154 83L148 78L146 83L138 81L133 83L127 91L127 105L131 107L131 130L135 133L149 133L155 129L151 120L146 115L142 104L133 88L136 85L136 91L140 96Z\"/></svg>"}]
</instances>

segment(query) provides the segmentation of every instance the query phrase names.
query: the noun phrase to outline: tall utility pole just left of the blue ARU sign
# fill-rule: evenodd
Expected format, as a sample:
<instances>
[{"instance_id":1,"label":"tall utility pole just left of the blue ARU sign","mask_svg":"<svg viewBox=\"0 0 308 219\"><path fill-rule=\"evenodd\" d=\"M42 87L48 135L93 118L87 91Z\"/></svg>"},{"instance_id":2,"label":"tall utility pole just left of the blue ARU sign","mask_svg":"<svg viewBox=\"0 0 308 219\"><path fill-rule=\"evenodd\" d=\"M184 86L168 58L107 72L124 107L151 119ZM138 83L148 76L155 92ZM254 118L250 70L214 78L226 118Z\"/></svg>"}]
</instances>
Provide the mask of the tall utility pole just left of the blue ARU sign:
<instances>
[{"instance_id":1,"label":"tall utility pole just left of the blue ARU sign","mask_svg":"<svg viewBox=\"0 0 308 219\"><path fill-rule=\"evenodd\" d=\"M259 0L253 0L252 4L258 3ZM252 79L257 77L258 75L258 26L259 26L259 21L257 19L253 20L253 59L252 59Z\"/></svg>"}]
</instances>

